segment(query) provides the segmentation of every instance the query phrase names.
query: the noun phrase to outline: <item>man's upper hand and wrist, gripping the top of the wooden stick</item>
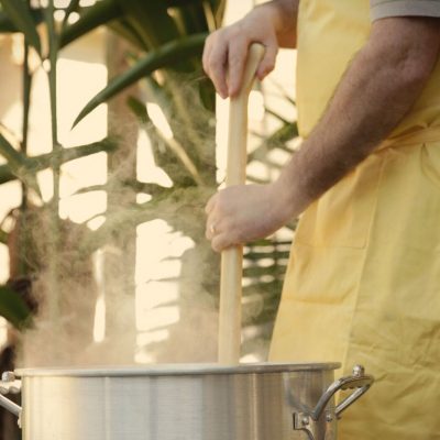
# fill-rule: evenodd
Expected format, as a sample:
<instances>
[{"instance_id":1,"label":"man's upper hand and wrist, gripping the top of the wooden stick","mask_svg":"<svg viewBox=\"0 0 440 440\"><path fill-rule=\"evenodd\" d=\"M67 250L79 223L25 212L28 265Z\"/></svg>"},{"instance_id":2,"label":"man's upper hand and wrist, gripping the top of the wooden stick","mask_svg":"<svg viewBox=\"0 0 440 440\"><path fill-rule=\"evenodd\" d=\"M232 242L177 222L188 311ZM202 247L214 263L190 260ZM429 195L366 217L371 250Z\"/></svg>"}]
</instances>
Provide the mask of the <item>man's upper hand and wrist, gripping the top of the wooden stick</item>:
<instances>
[{"instance_id":1,"label":"man's upper hand and wrist, gripping the top of the wooden stick","mask_svg":"<svg viewBox=\"0 0 440 440\"><path fill-rule=\"evenodd\" d=\"M274 0L253 9L239 22L213 32L204 51L204 68L224 99L240 91L248 50L252 43L266 47L256 76L263 79L275 66L279 46L295 46L298 0Z\"/></svg>"}]
</instances>

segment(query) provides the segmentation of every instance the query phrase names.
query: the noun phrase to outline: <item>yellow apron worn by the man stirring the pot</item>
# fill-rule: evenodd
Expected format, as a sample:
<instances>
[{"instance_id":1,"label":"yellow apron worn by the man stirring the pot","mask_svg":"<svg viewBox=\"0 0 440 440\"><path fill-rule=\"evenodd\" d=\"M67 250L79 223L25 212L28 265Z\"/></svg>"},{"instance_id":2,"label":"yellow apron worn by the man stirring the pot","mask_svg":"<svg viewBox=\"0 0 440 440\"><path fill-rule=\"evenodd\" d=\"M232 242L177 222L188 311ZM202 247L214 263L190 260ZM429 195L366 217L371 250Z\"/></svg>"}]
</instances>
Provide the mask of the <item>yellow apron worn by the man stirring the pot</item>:
<instances>
[{"instance_id":1,"label":"yellow apron worn by the man stirring the pot","mask_svg":"<svg viewBox=\"0 0 440 440\"><path fill-rule=\"evenodd\" d=\"M367 40L369 8L300 1L304 138ZM440 439L439 220L440 64L410 114L296 232L270 359L340 361L344 374L361 363L376 377L344 413L339 440Z\"/></svg>"}]
</instances>

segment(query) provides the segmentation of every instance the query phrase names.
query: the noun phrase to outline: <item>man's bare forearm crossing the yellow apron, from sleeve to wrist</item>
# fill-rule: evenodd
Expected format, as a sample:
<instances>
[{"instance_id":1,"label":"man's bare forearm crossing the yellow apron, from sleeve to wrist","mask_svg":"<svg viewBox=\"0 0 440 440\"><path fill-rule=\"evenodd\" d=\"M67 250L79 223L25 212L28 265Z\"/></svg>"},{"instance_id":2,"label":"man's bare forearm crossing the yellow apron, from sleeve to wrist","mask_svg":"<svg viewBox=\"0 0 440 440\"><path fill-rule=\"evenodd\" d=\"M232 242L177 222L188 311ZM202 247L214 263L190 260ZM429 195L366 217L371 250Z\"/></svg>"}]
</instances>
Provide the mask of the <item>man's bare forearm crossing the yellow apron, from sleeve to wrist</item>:
<instances>
[{"instance_id":1,"label":"man's bare forearm crossing the yellow apron, from sleeve to wrist","mask_svg":"<svg viewBox=\"0 0 440 440\"><path fill-rule=\"evenodd\" d=\"M293 215L373 152L409 111L433 68L438 31L427 32L420 45L409 42L402 47L397 38L395 47L393 43L387 47L381 38L388 37L389 29L383 28L384 35L380 30L376 40L373 36L355 56L321 121L282 173L280 187L288 188L285 201Z\"/></svg>"}]
</instances>

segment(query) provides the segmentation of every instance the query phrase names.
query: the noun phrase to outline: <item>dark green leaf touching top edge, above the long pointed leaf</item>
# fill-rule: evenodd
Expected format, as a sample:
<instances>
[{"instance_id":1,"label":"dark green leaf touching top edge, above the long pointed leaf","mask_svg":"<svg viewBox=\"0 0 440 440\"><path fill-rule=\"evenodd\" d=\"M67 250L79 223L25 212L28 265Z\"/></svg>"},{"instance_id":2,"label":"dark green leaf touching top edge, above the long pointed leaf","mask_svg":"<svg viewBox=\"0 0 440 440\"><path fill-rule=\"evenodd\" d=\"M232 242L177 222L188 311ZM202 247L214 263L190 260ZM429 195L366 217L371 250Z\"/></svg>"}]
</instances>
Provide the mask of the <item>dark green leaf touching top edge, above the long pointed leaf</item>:
<instances>
[{"instance_id":1,"label":"dark green leaf touching top edge, above the long pointed leaf","mask_svg":"<svg viewBox=\"0 0 440 440\"><path fill-rule=\"evenodd\" d=\"M121 14L122 10L116 0L97 1L85 10L77 22L62 32L59 47L64 47L100 25L118 19Z\"/></svg>"}]
</instances>

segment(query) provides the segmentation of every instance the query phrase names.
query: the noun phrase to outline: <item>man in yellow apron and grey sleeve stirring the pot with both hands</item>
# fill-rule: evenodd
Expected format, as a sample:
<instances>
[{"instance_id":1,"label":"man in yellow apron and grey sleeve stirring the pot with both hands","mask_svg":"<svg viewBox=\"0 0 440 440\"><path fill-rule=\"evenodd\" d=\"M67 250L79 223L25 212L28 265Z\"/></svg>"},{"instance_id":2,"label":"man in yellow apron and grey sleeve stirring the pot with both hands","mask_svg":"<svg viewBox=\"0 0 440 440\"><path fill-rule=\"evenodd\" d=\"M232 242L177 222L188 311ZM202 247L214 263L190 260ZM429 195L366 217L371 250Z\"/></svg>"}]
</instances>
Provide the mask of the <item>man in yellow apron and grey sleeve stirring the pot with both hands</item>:
<instances>
[{"instance_id":1,"label":"man in yellow apron and grey sleeve stirring the pot with both hands","mask_svg":"<svg viewBox=\"0 0 440 440\"><path fill-rule=\"evenodd\" d=\"M279 178L207 205L221 251L302 213L272 361L364 364L339 439L440 439L440 0L275 0L207 41L224 98L251 42L297 47L302 146ZM229 75L227 75L229 72Z\"/></svg>"}]
</instances>

